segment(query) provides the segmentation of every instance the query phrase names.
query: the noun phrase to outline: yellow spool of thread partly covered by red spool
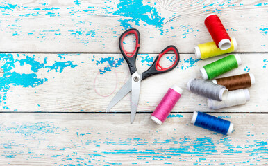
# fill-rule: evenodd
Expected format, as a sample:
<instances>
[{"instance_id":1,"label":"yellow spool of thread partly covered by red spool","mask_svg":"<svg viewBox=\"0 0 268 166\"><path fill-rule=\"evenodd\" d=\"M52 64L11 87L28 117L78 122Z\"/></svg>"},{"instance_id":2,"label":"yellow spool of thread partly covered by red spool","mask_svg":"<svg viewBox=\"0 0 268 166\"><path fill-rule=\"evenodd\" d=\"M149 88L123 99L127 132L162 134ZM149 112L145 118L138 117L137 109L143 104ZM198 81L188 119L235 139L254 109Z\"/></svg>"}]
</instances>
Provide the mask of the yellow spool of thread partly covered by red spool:
<instances>
[{"instance_id":1,"label":"yellow spool of thread partly covered by red spool","mask_svg":"<svg viewBox=\"0 0 268 166\"><path fill-rule=\"evenodd\" d=\"M194 47L194 53L196 59L207 59L210 57L216 57L218 55L224 55L226 53L231 53L237 49L237 42L235 38L231 39L231 47L227 50L219 49L215 42L208 42L205 44L199 44L198 46Z\"/></svg>"}]
</instances>

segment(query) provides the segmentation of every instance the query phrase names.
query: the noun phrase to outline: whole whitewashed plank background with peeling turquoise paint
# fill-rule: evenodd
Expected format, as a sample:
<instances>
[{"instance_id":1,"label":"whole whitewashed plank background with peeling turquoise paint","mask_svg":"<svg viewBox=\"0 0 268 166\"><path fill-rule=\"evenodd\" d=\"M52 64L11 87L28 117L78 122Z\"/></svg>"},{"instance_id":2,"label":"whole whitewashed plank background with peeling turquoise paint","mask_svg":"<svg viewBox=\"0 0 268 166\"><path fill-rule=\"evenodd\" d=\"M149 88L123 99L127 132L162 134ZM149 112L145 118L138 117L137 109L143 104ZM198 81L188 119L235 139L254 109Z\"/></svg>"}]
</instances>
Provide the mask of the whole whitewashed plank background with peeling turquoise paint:
<instances>
[{"instance_id":1,"label":"whole whitewashed plank background with peeling turquoise paint","mask_svg":"<svg viewBox=\"0 0 268 166\"><path fill-rule=\"evenodd\" d=\"M210 13L242 57L222 76L256 76L249 102L217 111L185 89L201 66L222 57L194 57L194 46L211 41L203 24ZM267 20L268 1L1 1L0 165L268 165ZM130 95L105 113L130 77L118 47L128 28L140 30L140 72L166 46L181 53L173 71L142 82L133 124ZM159 126L149 118L173 84L185 91ZM231 120L233 133L195 127L193 111Z\"/></svg>"}]
</instances>

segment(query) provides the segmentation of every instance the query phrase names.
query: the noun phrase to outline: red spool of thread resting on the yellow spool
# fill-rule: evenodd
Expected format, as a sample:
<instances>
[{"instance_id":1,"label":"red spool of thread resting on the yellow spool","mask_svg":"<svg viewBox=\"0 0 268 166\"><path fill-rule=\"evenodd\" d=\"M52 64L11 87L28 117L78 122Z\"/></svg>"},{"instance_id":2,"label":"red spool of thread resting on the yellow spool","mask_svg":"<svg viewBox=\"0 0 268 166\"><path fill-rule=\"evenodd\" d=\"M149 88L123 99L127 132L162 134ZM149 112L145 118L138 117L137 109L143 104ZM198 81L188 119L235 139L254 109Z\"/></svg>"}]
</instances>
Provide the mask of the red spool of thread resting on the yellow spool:
<instances>
[{"instance_id":1,"label":"red spool of thread resting on the yellow spool","mask_svg":"<svg viewBox=\"0 0 268 166\"><path fill-rule=\"evenodd\" d=\"M221 50L227 50L231 47L231 38L217 15L208 15L205 19L205 25L217 47Z\"/></svg>"}]
</instances>

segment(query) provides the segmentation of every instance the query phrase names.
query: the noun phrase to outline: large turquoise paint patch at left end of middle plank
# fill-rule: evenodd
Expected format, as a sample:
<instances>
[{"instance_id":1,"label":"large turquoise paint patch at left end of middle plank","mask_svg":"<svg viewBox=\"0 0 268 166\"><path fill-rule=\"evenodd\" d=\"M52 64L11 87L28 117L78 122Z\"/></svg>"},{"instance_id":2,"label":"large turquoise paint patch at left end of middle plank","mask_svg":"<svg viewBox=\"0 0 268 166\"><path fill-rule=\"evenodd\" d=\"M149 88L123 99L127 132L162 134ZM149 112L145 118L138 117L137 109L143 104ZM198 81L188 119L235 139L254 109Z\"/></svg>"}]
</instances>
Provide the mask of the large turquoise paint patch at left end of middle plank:
<instances>
[{"instance_id":1,"label":"large turquoise paint patch at left end of middle plank","mask_svg":"<svg viewBox=\"0 0 268 166\"><path fill-rule=\"evenodd\" d=\"M61 55L62 56L62 55ZM0 77L0 104L3 109L10 109L6 107L6 98L11 86L22 86L23 88L35 88L47 82L48 79L43 77L37 77L37 73L41 68L48 68L49 71L56 71L61 73L65 68L74 68L77 65L71 61L67 62L54 62L53 65L47 65L47 57L42 59L42 62L38 62L35 59L35 55L25 54L0 54L0 62L3 63L1 68L3 69L3 76ZM32 73L17 73L15 70L15 64L20 66L30 65Z\"/></svg>"}]
</instances>

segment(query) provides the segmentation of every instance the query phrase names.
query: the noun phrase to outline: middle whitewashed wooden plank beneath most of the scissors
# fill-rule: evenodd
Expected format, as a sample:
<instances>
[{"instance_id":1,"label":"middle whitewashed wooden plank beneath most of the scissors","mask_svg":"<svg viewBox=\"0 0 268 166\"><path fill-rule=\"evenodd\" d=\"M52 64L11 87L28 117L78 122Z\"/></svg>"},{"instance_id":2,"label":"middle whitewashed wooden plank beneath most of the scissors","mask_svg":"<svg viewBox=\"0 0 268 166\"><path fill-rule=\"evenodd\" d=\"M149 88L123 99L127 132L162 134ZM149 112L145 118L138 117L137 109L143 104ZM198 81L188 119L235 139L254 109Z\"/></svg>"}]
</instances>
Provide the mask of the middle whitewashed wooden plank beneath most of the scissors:
<instances>
[{"instance_id":1,"label":"middle whitewashed wooden plank beneath most of the scissors","mask_svg":"<svg viewBox=\"0 0 268 166\"><path fill-rule=\"evenodd\" d=\"M156 54L140 54L137 68L149 68ZM245 105L220 109L228 112L267 112L267 55L241 54L242 66L222 75L253 73L256 85L249 91L251 100ZM212 111L206 98L186 90L187 81L201 77L199 68L222 57L202 61L192 54L181 54L181 62L173 71L142 81L138 112L153 111L173 84L185 91L174 111ZM168 66L173 55L163 57ZM120 54L1 54L1 111L103 112L130 74ZM109 65L110 64L110 65ZM129 94L111 111L129 112Z\"/></svg>"}]
</instances>

